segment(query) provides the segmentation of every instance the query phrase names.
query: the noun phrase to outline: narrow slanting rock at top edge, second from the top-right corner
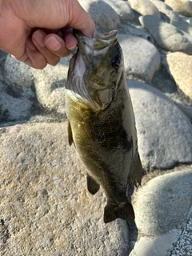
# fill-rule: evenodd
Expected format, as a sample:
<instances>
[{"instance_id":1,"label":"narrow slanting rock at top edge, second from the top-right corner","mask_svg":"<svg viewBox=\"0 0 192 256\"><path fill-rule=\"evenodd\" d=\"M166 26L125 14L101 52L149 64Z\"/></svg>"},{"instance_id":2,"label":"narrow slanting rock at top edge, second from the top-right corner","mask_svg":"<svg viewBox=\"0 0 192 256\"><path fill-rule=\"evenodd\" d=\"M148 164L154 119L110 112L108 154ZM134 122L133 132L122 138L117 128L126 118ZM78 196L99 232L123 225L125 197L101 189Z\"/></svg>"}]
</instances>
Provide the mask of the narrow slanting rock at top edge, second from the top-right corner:
<instances>
[{"instance_id":1,"label":"narrow slanting rock at top edge, second from the top-right corner","mask_svg":"<svg viewBox=\"0 0 192 256\"><path fill-rule=\"evenodd\" d=\"M165 2L159 1L159 0L150 0L156 6L160 13L166 14L167 17L170 18L170 20L179 20L179 15L176 11L170 8L170 6L167 6Z\"/></svg>"}]
</instances>

